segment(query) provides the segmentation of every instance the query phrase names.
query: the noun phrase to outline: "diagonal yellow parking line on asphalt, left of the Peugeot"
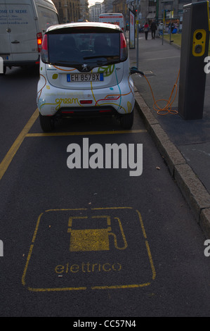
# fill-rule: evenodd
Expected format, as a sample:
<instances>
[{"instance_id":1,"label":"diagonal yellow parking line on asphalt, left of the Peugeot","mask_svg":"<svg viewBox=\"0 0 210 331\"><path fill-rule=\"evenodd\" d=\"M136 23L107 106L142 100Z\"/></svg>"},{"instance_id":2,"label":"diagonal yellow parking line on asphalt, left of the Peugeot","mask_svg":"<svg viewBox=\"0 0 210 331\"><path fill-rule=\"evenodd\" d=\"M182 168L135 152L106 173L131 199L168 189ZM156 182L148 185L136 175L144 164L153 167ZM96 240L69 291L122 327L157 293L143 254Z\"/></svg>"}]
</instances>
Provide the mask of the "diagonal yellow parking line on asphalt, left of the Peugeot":
<instances>
[{"instance_id":1,"label":"diagonal yellow parking line on asphalt, left of the Peugeot","mask_svg":"<svg viewBox=\"0 0 210 331\"><path fill-rule=\"evenodd\" d=\"M32 117L29 119L25 127L23 127L22 131L20 132L20 135L18 135L17 139L15 139L15 142L7 152L6 156L4 157L3 161L0 163L0 180L4 176L4 173L6 172L8 166L10 165L11 161L13 160L13 157L17 153L20 145L22 144L23 140L25 139L27 133L29 132L30 128L34 124L35 120L37 120L39 116L38 108L36 111L34 111Z\"/></svg>"}]
</instances>

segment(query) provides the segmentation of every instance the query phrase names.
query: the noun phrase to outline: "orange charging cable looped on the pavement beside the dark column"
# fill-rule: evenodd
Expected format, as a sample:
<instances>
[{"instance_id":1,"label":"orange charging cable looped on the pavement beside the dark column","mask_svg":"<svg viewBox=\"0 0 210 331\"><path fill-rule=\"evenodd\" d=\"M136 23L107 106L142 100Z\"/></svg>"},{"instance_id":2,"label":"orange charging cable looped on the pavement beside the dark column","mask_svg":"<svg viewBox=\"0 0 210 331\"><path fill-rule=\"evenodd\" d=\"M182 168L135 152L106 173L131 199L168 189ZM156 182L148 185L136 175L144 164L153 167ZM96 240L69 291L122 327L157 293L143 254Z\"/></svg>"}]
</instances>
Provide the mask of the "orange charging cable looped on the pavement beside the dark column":
<instances>
[{"instance_id":1,"label":"orange charging cable looped on the pavement beside the dark column","mask_svg":"<svg viewBox=\"0 0 210 331\"><path fill-rule=\"evenodd\" d=\"M155 109L155 111L157 111L157 113L159 115L167 115L169 113L170 114L173 114L173 115L176 115L178 113L178 111L171 109L171 106L172 106L173 102L175 101L176 95L177 95L177 92L178 92L177 82L178 82L179 73L180 73L180 70L178 70L178 76L176 78L176 83L173 85L173 89L171 91L171 95L169 96L169 100L159 99L157 101L155 100L155 96L153 94L153 91L152 91L152 87L150 85L150 82L147 80L147 77L145 75L143 75L143 77L145 77L145 79L147 80L147 83L148 83L148 85L150 87L150 90L152 92L152 98L154 100L153 109ZM172 99L174 89L175 89L175 94L174 94L174 97ZM166 101L166 106L164 106L164 108L161 108L161 107L158 106L157 103L160 102L160 101Z\"/></svg>"}]
</instances>

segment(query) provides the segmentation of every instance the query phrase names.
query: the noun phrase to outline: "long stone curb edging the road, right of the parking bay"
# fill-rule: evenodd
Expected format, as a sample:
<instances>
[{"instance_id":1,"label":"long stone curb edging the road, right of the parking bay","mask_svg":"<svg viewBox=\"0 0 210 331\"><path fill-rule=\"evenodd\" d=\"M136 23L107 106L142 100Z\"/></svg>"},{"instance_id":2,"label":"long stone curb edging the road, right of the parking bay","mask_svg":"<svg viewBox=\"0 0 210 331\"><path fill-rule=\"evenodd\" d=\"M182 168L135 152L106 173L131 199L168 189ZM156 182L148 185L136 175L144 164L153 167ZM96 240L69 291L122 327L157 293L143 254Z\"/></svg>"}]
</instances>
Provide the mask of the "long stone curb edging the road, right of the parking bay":
<instances>
[{"instance_id":1,"label":"long stone curb edging the road, right of the parking bay","mask_svg":"<svg viewBox=\"0 0 210 331\"><path fill-rule=\"evenodd\" d=\"M207 239L210 239L210 195L177 147L171 142L143 97L134 86L136 108L143 117L145 127L169 167L195 219Z\"/></svg>"}]
</instances>

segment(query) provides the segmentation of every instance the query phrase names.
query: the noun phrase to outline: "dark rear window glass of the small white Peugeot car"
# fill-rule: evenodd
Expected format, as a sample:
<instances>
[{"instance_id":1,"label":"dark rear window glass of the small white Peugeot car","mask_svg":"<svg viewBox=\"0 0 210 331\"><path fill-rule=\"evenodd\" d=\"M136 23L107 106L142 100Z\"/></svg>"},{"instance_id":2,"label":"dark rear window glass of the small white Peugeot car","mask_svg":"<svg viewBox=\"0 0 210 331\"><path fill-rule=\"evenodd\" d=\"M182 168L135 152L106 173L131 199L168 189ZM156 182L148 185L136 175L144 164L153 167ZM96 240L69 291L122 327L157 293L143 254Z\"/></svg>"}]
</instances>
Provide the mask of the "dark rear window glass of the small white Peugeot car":
<instances>
[{"instance_id":1,"label":"dark rear window glass of the small white Peugeot car","mask_svg":"<svg viewBox=\"0 0 210 331\"><path fill-rule=\"evenodd\" d=\"M49 63L93 67L120 61L120 33L74 32L48 34Z\"/></svg>"}]
</instances>

